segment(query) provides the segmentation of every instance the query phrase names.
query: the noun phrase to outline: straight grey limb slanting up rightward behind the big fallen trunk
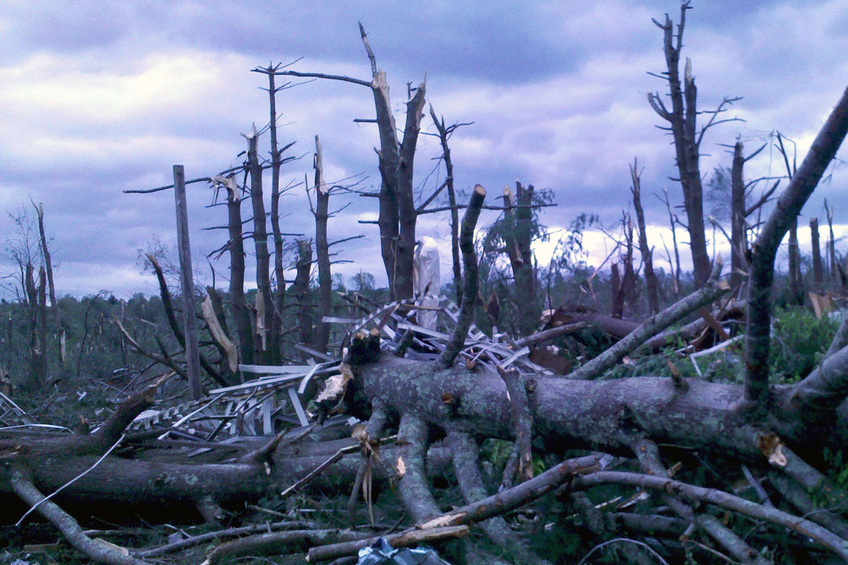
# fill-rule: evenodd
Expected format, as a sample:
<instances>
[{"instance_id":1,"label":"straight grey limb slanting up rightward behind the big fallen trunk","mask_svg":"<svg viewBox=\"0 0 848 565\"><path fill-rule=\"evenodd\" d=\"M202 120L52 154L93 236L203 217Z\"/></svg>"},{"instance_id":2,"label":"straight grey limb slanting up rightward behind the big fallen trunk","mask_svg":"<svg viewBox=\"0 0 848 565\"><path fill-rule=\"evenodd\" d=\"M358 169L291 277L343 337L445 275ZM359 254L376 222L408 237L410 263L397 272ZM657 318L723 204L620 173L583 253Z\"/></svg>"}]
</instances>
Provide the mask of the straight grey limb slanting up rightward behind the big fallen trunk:
<instances>
[{"instance_id":1,"label":"straight grey limb slanting up rightward behind the big fallen trunk","mask_svg":"<svg viewBox=\"0 0 848 565\"><path fill-rule=\"evenodd\" d=\"M594 379L600 374L603 374L607 369L613 367L616 363L621 361L625 355L633 352L633 350L641 346L645 341L648 341L651 337L657 335L661 330L665 330L668 326L682 319L686 314L709 304L716 300L719 296L722 296L722 294L728 292L730 290L730 285L728 285L728 283L724 280L717 279L721 269L722 262L720 258L718 258L713 265L710 280L706 282L706 285L689 296L675 302L661 313L651 316L636 330L630 332L627 337L618 341L616 345L611 346L598 357L594 357L594 359L583 365L583 367L566 375L566 378Z\"/></svg>"}]
</instances>

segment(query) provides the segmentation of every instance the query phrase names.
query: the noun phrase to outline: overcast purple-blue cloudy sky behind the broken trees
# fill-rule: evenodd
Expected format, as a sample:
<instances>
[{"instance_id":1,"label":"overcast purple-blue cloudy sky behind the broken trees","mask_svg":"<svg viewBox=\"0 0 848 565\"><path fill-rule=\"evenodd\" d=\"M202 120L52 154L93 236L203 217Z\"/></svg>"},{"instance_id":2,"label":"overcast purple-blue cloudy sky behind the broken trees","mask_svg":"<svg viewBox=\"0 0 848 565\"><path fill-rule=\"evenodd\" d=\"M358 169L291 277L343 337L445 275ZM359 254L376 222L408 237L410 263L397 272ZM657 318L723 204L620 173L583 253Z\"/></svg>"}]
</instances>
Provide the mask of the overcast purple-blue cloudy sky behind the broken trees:
<instances>
[{"instance_id":1,"label":"overcast purple-blue cloudy sky behind the broken trees","mask_svg":"<svg viewBox=\"0 0 848 565\"><path fill-rule=\"evenodd\" d=\"M848 3L694 6L684 56L693 60L700 108L739 96L728 117L745 119L707 134L702 172L729 165L718 144L739 136L750 152L775 130L797 142L800 162L848 84ZM675 0L0 0L0 7L0 226L13 236L7 213L31 210L31 200L44 203L59 294L155 291L150 275L140 273L137 250L176 241L173 194L123 191L169 184L174 163L185 165L188 178L241 163L246 141L239 134L268 121L267 95L259 90L265 76L249 72L256 65L302 58L292 69L370 79L357 20L388 72L397 113L404 111L406 83L427 75L436 112L449 123L474 122L452 139L460 190L480 183L496 196L521 179L554 192L559 206L545 210L545 224L566 227L577 214L593 212L609 225L628 208L628 163L636 157L656 233L667 221L652 193L667 188L680 202L679 186L667 180L674 173L670 139L656 129L660 119L646 101L647 92L666 91L646 73L664 67L661 30L651 18L669 13L677 20ZM365 174L365 187L379 184L376 128L353 122L374 115L367 88L310 82L282 91L277 108L281 141L296 142L288 154L305 156L287 164L285 180L311 175L319 135L328 181ZM435 130L428 117L422 124ZM267 136L260 147L267 152ZM438 186L438 174L444 177L439 171L427 179L438 153L436 140L422 137L416 176L425 193ZM783 170L766 150L746 176ZM828 197L841 234L848 174L839 164L833 172L801 224L811 216L823 221ZM226 211L208 208L214 194L206 184L188 191L195 267L208 274L204 255L226 241L226 232L201 228L226 224ZM338 269L385 280L376 226L357 223L377 217L376 201L338 197L332 206L347 203L331 220L331 237L365 238L345 246L339 258L354 263ZM283 206L283 230L314 233L303 186L283 197ZM449 230L444 217L431 215L419 220L418 233L444 240ZM594 257L609 245L601 235L587 241ZM653 242L661 247L656 236ZM220 277L227 265L226 257L215 263ZM8 262L0 269L14 270ZM443 267L443 277L448 272Z\"/></svg>"}]
</instances>

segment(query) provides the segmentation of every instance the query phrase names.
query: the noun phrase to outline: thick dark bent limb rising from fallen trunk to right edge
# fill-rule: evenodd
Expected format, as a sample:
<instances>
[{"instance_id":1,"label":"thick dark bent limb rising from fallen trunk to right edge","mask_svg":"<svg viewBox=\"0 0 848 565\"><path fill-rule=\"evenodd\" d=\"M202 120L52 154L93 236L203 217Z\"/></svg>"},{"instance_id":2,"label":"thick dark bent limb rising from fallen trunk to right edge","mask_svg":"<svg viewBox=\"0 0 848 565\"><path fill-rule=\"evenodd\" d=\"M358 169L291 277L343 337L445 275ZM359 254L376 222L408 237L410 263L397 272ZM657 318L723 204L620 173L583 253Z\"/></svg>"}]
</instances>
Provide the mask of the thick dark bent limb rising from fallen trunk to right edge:
<instances>
[{"instance_id":1,"label":"thick dark bent limb rising from fallen trunk to right edge","mask_svg":"<svg viewBox=\"0 0 848 565\"><path fill-rule=\"evenodd\" d=\"M774 259L780 242L795 221L801 208L818 185L824 170L833 160L848 134L848 89L845 89L828 116L810 151L795 171L773 212L763 224L760 235L751 246L750 280L748 284L748 316L745 322L745 400L767 409L771 403L768 390L768 351L771 293Z\"/></svg>"}]
</instances>

